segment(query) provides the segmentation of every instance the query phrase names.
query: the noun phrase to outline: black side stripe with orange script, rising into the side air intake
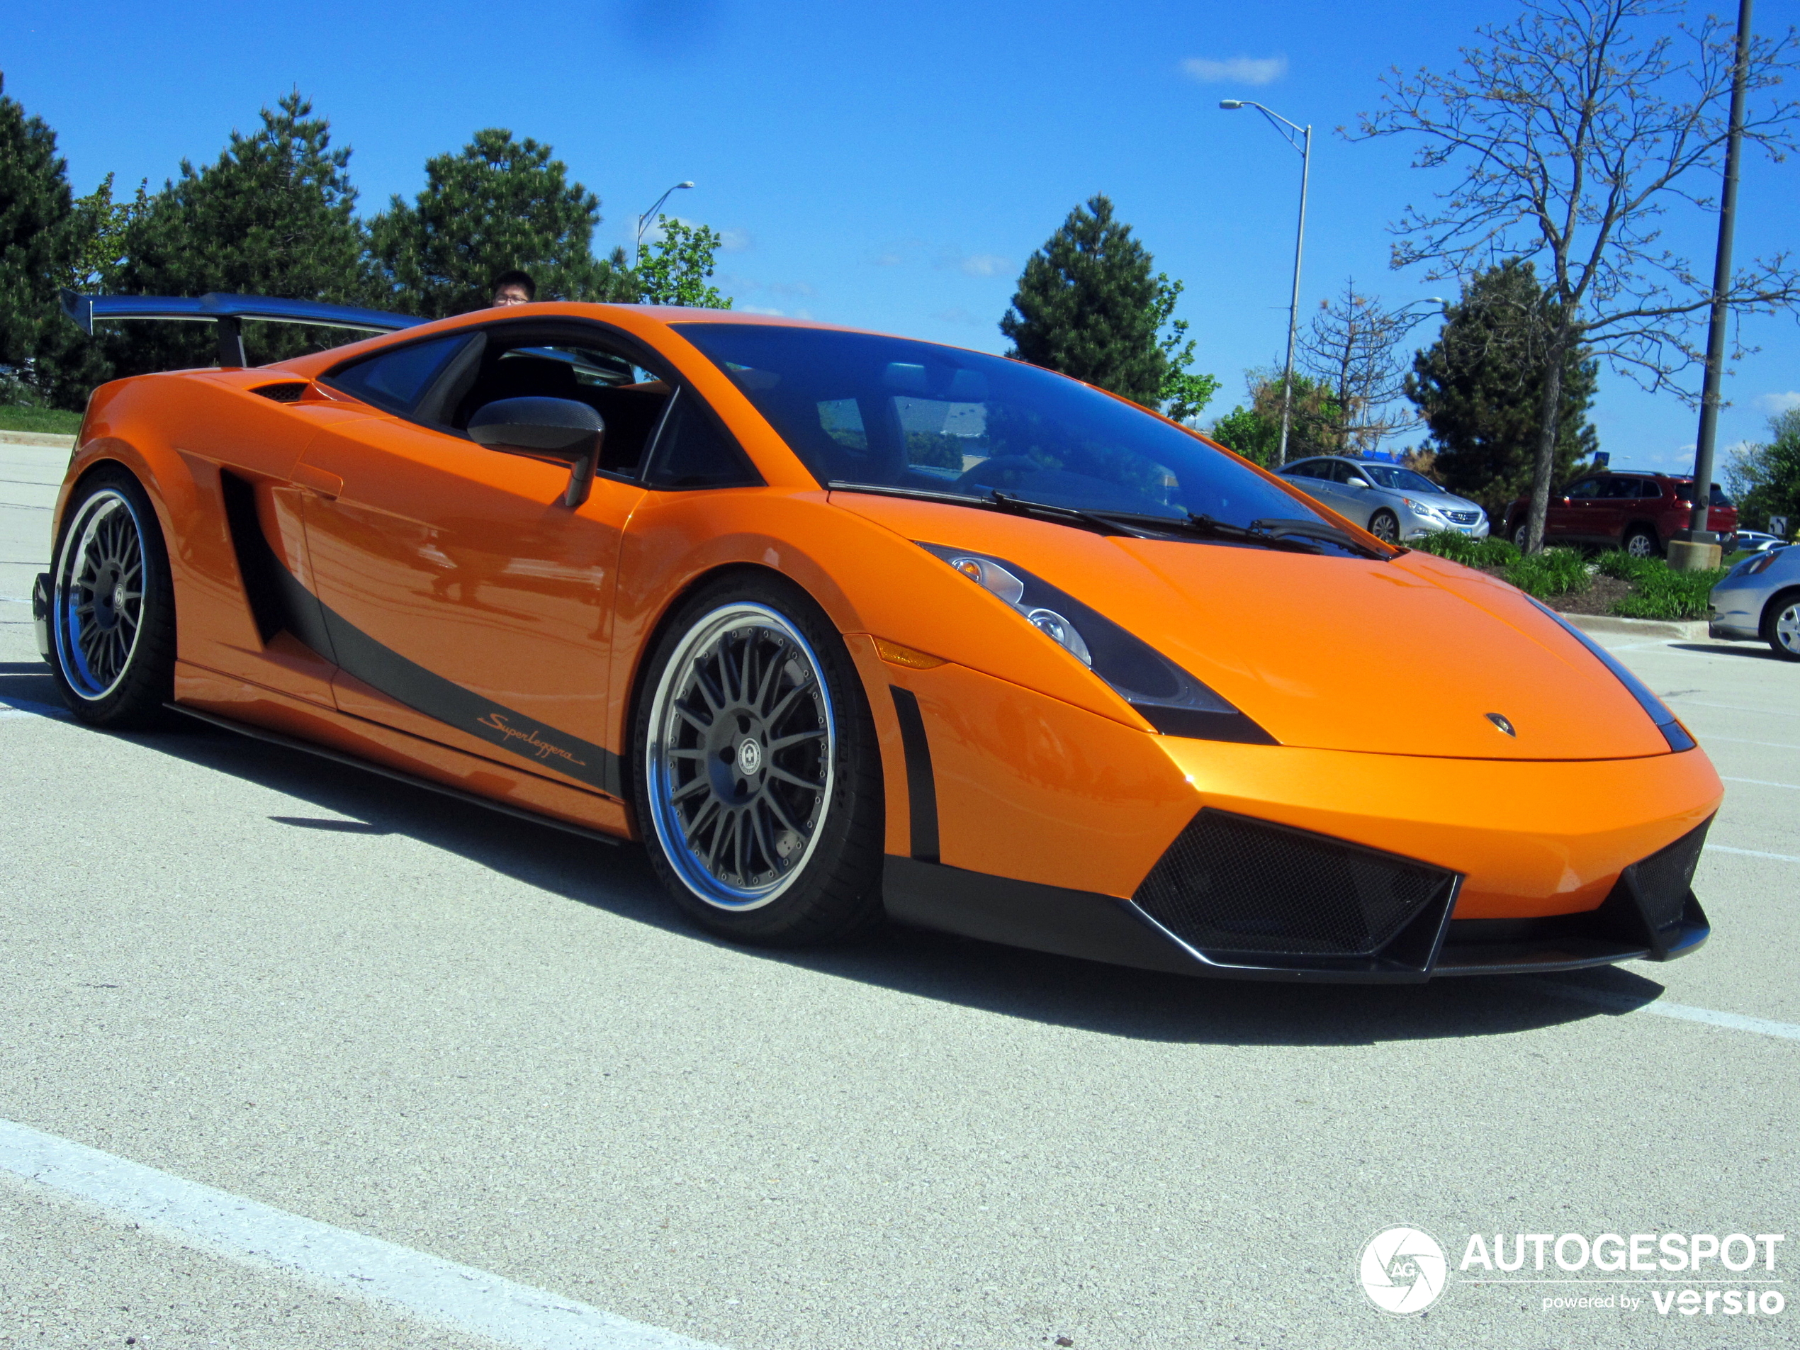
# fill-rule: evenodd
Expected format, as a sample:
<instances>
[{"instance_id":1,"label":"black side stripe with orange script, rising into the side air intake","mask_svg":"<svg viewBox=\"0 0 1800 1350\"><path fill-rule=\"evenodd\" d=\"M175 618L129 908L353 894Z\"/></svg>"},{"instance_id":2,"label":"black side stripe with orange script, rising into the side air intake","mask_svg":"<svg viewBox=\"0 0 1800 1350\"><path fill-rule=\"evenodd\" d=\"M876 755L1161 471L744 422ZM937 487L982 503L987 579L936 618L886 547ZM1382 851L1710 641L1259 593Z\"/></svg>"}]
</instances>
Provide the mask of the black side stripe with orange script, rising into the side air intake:
<instances>
[{"instance_id":1,"label":"black side stripe with orange script, rising into the side air intake","mask_svg":"<svg viewBox=\"0 0 1800 1350\"><path fill-rule=\"evenodd\" d=\"M238 553L245 596L265 643L286 630L338 670L355 675L414 713L423 713L614 797L623 796L619 756L607 747L571 736L567 731L515 713L482 698L473 689L446 680L376 641L319 599L301 585L301 580L283 565L279 554L270 547L256 517L256 490L234 473L221 473L220 481L225 490L225 520Z\"/></svg>"}]
</instances>

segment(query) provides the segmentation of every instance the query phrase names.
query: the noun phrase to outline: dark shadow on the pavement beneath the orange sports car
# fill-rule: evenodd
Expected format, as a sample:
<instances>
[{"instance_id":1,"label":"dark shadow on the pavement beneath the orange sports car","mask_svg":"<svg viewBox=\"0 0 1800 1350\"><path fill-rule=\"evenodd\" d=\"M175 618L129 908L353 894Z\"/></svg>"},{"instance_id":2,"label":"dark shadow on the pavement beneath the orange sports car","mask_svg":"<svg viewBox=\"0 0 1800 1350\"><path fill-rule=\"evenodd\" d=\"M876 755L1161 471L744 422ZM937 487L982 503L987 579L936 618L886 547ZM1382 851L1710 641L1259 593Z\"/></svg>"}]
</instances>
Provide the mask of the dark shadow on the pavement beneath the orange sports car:
<instances>
[{"instance_id":1,"label":"dark shadow on the pavement beneath the orange sports car","mask_svg":"<svg viewBox=\"0 0 1800 1350\"><path fill-rule=\"evenodd\" d=\"M20 666L0 664L0 700L14 706L56 702L54 689L47 688L49 675L20 671ZM1654 981L1618 968L1400 986L1208 981L902 927L848 947L797 952L736 947L697 931L673 911L635 844L608 848L200 722L121 738L331 814L266 817L277 824L407 835L540 891L657 927L682 941L722 947L743 959L778 961L1003 1017L1134 1040L1357 1046L1516 1035L1622 1015L1663 992ZM1568 994L1559 994L1559 986ZM1611 1006L1595 1006L1597 995L1600 1004Z\"/></svg>"}]
</instances>

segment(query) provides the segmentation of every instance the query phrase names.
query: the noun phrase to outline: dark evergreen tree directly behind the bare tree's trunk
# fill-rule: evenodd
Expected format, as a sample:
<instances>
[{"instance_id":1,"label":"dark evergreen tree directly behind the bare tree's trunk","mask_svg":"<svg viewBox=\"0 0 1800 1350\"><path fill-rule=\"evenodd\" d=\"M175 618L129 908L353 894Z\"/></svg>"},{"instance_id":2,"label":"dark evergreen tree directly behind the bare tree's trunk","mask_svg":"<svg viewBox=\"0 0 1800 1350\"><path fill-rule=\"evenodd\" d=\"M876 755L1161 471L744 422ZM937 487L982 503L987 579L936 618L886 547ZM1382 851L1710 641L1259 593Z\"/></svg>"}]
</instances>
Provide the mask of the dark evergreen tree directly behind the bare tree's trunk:
<instances>
[{"instance_id":1,"label":"dark evergreen tree directly behind the bare tree's trunk","mask_svg":"<svg viewBox=\"0 0 1800 1350\"><path fill-rule=\"evenodd\" d=\"M1438 340L1413 358L1406 396L1418 405L1436 443L1436 475L1451 491L1501 511L1528 493L1543 418L1544 295L1530 263L1507 259L1471 277L1445 311ZM1588 423L1598 362L1584 347L1562 353L1555 380L1557 441L1553 481L1566 482L1577 461L1598 450Z\"/></svg>"}]
</instances>

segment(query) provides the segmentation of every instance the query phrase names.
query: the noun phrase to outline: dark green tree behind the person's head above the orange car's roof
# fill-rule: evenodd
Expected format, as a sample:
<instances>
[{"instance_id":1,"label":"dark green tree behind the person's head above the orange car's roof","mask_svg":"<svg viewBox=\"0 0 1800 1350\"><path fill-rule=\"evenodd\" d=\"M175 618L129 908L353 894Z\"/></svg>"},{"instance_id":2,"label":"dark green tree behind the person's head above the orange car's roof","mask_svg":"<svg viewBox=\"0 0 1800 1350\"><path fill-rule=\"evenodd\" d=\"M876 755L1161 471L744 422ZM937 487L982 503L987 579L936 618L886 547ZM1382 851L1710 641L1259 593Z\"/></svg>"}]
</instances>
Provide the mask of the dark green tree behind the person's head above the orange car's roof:
<instances>
[{"instance_id":1,"label":"dark green tree behind the person's head above the orange car's roof","mask_svg":"<svg viewBox=\"0 0 1800 1350\"><path fill-rule=\"evenodd\" d=\"M599 198L571 182L551 146L502 128L425 162L425 189L369 221L385 308L445 319L490 302L493 277L522 268L540 301L634 301L623 250L592 252Z\"/></svg>"}]
</instances>

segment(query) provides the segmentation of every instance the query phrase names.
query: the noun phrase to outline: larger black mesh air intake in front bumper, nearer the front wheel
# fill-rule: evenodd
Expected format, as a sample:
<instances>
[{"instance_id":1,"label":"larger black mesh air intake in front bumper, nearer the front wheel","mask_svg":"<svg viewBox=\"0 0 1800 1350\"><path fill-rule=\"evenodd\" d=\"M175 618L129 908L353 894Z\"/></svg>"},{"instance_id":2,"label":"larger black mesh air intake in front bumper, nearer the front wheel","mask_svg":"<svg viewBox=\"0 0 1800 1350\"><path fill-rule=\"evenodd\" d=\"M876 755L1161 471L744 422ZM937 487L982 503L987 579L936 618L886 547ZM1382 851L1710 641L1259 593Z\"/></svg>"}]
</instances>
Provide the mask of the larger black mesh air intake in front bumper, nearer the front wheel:
<instances>
[{"instance_id":1,"label":"larger black mesh air intake in front bumper, nearer the front wheel","mask_svg":"<svg viewBox=\"0 0 1800 1350\"><path fill-rule=\"evenodd\" d=\"M1363 958L1454 886L1442 868L1208 808L1132 898L1208 956Z\"/></svg>"}]
</instances>

